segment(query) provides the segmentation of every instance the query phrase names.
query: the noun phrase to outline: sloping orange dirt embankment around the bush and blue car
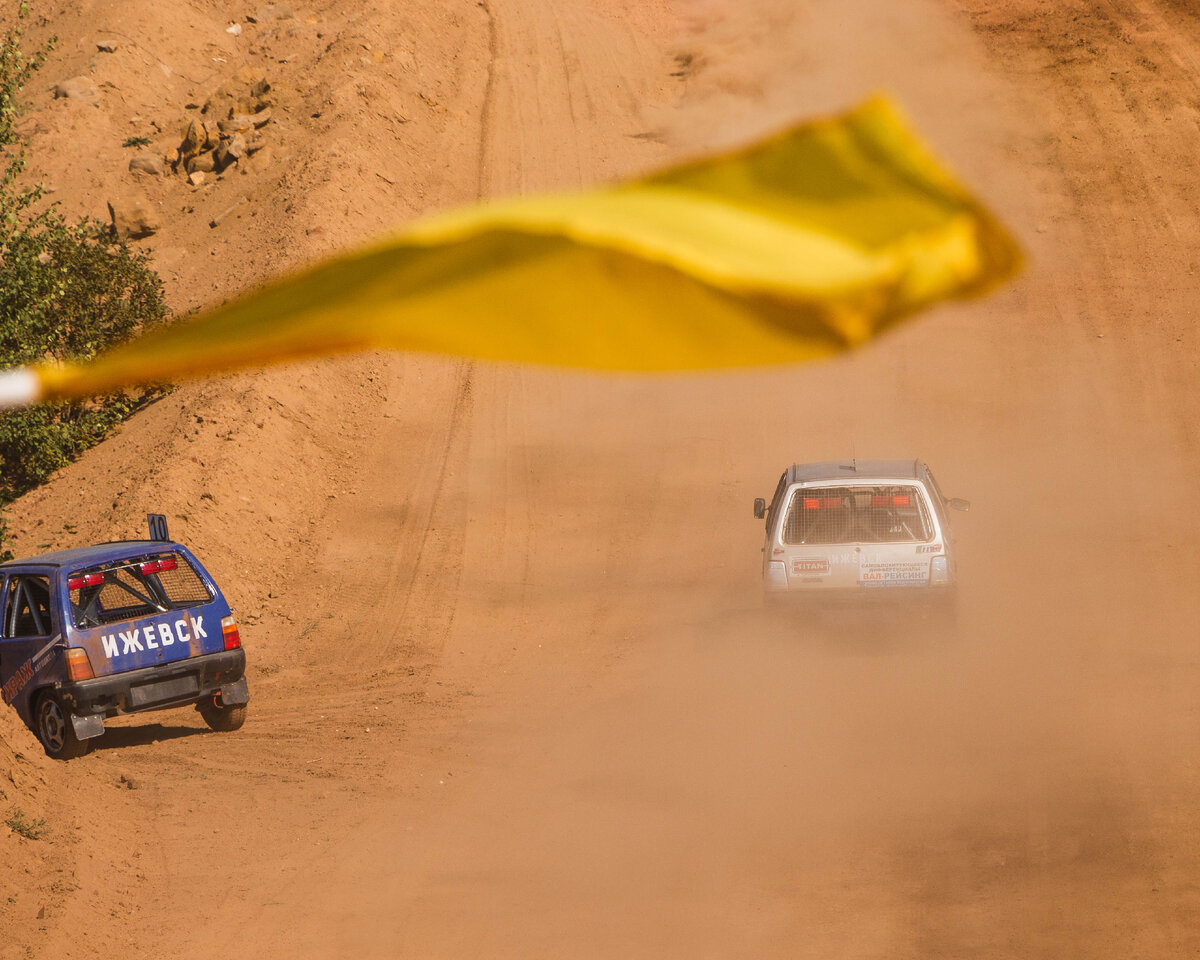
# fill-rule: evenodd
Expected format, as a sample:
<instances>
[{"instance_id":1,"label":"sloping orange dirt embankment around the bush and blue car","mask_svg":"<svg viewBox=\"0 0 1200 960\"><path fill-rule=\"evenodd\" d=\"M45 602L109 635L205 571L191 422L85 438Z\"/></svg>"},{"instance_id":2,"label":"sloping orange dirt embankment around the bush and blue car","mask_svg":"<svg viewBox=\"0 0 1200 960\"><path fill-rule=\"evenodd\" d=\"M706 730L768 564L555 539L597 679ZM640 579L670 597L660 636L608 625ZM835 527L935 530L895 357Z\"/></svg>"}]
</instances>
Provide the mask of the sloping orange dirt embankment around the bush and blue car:
<instances>
[{"instance_id":1,"label":"sloping orange dirt embankment around the bush and blue car","mask_svg":"<svg viewBox=\"0 0 1200 960\"><path fill-rule=\"evenodd\" d=\"M107 218L113 198L146 200L161 228L140 246L152 251L178 311L474 193L474 170L438 157L450 152L448 128L468 122L480 95L479 74L463 76L457 61L481 55L481 12L463 20L410 8L380 22L356 10L301 11L251 24L236 5L85 6L52 13L34 5L30 48L52 34L58 42L26 91L30 166L72 216ZM232 23L244 28L236 37ZM149 139L146 152L179 146L206 98L242 70L270 82L266 162L199 188L169 169L128 170L137 150L124 148L126 139ZM58 82L78 74L92 78L97 103L53 98ZM295 626L307 616L295 606L298 571L311 565L318 523L353 492L361 451L390 415L379 382L378 361L365 358L184 386L16 505L14 548L20 556L137 536L148 510L164 512L173 534L194 544L227 584L246 632L264 641L257 676L280 671L287 643L269 653L265 637L304 631ZM14 718L4 724L0 779L12 781L5 815L19 809L46 828L37 840L4 830L12 850L0 926L22 932L0 949L50 955L42 952L56 942L54 930L86 920L92 906L106 917L134 908L132 894L114 890L146 881L138 862L154 841L136 839L152 828L149 808L136 803L145 794L130 781L145 790L154 778L139 782L122 764L47 764ZM150 739L162 736L156 727ZM132 834L122 836L122 821L137 824ZM122 937L100 931L97 942Z\"/></svg>"}]
</instances>

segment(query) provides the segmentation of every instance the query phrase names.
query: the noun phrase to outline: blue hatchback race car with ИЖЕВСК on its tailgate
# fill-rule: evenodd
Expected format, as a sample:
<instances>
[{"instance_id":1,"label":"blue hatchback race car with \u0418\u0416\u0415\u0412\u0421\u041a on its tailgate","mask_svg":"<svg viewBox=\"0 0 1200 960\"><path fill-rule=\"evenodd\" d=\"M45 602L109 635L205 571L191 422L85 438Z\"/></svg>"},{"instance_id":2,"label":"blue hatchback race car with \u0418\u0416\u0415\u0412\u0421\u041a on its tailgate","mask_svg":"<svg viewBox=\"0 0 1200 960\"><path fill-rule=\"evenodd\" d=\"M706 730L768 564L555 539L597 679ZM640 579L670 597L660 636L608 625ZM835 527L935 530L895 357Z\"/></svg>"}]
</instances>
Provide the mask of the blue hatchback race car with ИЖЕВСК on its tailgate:
<instances>
[{"instance_id":1,"label":"blue hatchback race car with \u0418\u0416\u0415\u0412\u0421\u041a on its tailgate","mask_svg":"<svg viewBox=\"0 0 1200 960\"><path fill-rule=\"evenodd\" d=\"M0 695L70 760L104 718L194 703L217 731L246 720L238 623L221 590L151 515L150 540L0 564Z\"/></svg>"}]
</instances>

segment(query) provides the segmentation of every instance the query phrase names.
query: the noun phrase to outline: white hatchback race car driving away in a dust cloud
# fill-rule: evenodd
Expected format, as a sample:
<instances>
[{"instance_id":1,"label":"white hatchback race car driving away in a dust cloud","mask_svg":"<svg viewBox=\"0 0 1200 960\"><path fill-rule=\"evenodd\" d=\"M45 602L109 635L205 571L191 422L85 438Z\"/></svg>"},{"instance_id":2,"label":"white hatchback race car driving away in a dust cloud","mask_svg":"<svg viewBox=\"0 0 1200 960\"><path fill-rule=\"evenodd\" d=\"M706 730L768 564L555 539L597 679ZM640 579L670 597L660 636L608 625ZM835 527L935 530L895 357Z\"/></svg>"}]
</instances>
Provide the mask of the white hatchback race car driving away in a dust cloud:
<instances>
[{"instance_id":1,"label":"white hatchback race car driving away in a dust cloud","mask_svg":"<svg viewBox=\"0 0 1200 960\"><path fill-rule=\"evenodd\" d=\"M845 598L888 590L953 600L955 551L947 499L919 460L847 460L788 467L767 521L763 587L770 595ZM900 594L900 592L904 592Z\"/></svg>"}]
</instances>

